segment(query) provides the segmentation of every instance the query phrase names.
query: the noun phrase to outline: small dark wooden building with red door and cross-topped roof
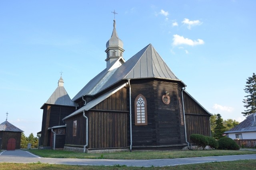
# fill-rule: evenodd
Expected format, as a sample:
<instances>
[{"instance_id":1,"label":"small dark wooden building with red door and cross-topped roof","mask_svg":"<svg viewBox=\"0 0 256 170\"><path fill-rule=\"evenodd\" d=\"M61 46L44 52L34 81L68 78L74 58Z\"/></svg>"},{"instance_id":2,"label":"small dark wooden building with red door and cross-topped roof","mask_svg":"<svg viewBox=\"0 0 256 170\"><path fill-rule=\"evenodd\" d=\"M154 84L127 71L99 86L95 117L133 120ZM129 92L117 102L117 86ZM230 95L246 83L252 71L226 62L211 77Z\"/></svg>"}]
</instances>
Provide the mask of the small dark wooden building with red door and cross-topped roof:
<instances>
[{"instance_id":1,"label":"small dark wooden building with red door and cross-topped roof","mask_svg":"<svg viewBox=\"0 0 256 170\"><path fill-rule=\"evenodd\" d=\"M8 115L8 113L6 114ZM6 121L0 124L0 150L20 149L22 132L18 127L8 122L6 117Z\"/></svg>"}]
</instances>

